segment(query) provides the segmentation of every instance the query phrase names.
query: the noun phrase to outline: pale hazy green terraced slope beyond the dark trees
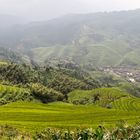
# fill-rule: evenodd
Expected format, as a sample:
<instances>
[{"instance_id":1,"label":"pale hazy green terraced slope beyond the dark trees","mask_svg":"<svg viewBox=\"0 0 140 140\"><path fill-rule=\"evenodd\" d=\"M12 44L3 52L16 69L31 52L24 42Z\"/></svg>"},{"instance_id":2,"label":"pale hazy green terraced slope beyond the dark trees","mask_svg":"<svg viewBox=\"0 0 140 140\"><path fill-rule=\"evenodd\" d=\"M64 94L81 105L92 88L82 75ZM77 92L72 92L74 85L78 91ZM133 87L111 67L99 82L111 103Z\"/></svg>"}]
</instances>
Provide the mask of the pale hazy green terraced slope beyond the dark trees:
<instances>
[{"instance_id":1,"label":"pale hazy green terraced slope beyond the dark trees","mask_svg":"<svg viewBox=\"0 0 140 140\"><path fill-rule=\"evenodd\" d=\"M121 48L122 46L123 48ZM137 49L137 51L139 52L139 49ZM139 66L139 56L137 51L118 39L102 42L100 44L88 42L88 44L85 43L79 46L60 45L33 48L32 54L34 60L38 63L44 63L46 60L54 58L70 58L76 63L84 66Z\"/></svg>"}]
</instances>

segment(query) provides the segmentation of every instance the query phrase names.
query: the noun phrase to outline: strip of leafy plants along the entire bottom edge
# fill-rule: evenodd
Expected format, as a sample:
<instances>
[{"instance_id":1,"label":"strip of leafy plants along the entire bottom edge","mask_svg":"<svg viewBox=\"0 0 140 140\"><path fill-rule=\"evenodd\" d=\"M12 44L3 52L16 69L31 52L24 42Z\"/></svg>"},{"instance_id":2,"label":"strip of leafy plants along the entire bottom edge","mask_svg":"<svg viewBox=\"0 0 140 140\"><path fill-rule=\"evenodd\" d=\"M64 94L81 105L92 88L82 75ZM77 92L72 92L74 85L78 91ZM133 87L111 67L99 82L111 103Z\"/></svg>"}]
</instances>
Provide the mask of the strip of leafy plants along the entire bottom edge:
<instances>
[{"instance_id":1,"label":"strip of leafy plants along the entire bottom edge","mask_svg":"<svg viewBox=\"0 0 140 140\"><path fill-rule=\"evenodd\" d=\"M81 128L81 129L44 129L36 132L35 134L25 133L19 131L9 125L0 126L0 138L1 139L30 139L30 140L139 140L140 127L139 124L135 126L127 125L125 122L118 122L116 128L108 130L103 126L99 126L96 129Z\"/></svg>"}]
</instances>

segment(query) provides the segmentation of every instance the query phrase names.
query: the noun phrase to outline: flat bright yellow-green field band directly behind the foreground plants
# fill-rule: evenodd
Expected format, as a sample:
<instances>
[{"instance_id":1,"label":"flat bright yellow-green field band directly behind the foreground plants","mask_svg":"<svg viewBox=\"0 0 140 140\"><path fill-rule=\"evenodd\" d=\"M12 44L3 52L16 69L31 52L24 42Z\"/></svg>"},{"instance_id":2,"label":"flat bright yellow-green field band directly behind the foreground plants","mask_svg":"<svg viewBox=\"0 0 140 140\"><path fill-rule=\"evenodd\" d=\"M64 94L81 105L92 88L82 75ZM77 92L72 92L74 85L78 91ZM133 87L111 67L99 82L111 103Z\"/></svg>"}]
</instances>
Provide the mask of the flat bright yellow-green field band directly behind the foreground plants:
<instances>
[{"instance_id":1,"label":"flat bright yellow-green field band directly behind the foreground plants","mask_svg":"<svg viewBox=\"0 0 140 140\"><path fill-rule=\"evenodd\" d=\"M50 104L15 102L0 107L0 124L10 124L30 132L46 127L95 128L100 124L112 127L119 120L126 120L133 124L140 120L140 111L106 109L95 105L82 106L62 102Z\"/></svg>"}]
</instances>

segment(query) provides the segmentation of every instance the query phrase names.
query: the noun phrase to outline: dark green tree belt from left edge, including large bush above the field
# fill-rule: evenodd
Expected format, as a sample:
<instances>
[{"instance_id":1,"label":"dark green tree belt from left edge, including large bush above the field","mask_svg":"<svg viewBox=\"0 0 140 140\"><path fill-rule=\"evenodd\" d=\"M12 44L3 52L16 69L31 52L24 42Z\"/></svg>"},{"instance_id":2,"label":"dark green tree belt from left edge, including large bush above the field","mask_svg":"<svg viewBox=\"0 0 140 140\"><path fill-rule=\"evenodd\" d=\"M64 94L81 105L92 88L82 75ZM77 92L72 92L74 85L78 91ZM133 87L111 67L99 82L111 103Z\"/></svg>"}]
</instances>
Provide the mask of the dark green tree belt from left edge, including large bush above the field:
<instances>
[{"instance_id":1,"label":"dark green tree belt from left edge, including large bush above the field","mask_svg":"<svg viewBox=\"0 0 140 140\"><path fill-rule=\"evenodd\" d=\"M99 83L94 79L84 78L87 75L86 73L79 77L73 73L68 73L68 71L71 70L57 70L51 67L32 68L26 64L1 65L0 83L3 85L16 85L19 88L29 88L29 92L32 93L34 98L44 103L62 101L64 99L63 95L67 100L67 94L75 89L93 89L99 86ZM6 95L8 96L8 94ZM6 103L3 98L1 102Z\"/></svg>"}]
</instances>

